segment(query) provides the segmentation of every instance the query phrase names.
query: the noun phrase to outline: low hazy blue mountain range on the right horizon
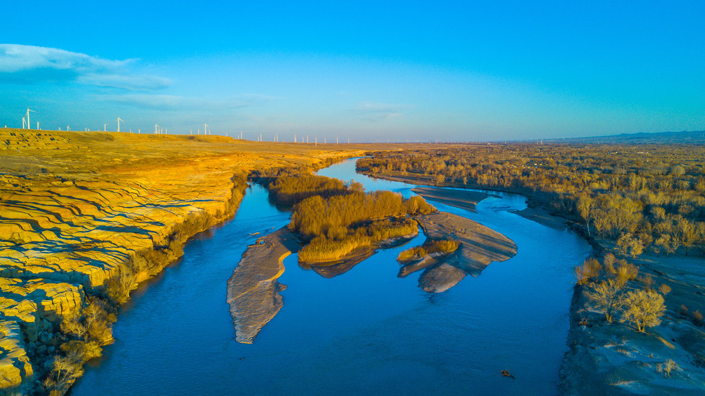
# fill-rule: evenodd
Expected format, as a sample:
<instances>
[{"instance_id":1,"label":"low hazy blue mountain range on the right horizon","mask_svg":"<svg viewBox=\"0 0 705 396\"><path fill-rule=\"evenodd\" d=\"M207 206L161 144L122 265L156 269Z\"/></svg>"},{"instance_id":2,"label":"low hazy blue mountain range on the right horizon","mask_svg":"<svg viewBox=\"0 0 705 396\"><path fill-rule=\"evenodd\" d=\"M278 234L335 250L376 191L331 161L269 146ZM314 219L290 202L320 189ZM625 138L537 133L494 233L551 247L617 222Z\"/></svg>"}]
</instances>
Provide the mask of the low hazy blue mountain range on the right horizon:
<instances>
[{"instance_id":1,"label":"low hazy blue mountain range on the right horizon","mask_svg":"<svg viewBox=\"0 0 705 396\"><path fill-rule=\"evenodd\" d=\"M544 139L544 142L592 144L705 144L705 130L682 132L623 133L621 135Z\"/></svg>"}]
</instances>

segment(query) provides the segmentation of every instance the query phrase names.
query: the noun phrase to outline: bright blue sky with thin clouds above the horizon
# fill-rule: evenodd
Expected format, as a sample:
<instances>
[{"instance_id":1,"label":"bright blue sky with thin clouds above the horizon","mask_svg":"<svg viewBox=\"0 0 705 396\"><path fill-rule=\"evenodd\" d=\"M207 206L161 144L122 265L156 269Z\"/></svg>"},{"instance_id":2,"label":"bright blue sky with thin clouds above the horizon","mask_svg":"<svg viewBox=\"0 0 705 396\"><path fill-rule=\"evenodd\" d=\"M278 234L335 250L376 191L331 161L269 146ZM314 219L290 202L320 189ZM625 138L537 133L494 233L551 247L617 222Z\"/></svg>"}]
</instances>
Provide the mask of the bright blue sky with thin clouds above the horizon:
<instances>
[{"instance_id":1,"label":"bright blue sky with thin clouds above the horizon","mask_svg":"<svg viewBox=\"0 0 705 396\"><path fill-rule=\"evenodd\" d=\"M107 4L105 4L107 3ZM4 1L0 125L478 141L705 130L705 2Z\"/></svg>"}]
</instances>

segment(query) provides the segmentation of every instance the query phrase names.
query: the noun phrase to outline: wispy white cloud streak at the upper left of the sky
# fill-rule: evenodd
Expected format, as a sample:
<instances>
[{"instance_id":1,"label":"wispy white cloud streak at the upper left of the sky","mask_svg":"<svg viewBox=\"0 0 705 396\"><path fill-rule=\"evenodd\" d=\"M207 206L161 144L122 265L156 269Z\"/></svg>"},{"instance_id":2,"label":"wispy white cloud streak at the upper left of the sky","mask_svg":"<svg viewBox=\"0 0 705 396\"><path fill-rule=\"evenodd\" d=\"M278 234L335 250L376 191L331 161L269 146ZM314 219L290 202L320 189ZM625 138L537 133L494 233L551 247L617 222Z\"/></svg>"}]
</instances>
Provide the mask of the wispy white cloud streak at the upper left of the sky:
<instances>
[{"instance_id":1,"label":"wispy white cloud streak at the upper left of the sky","mask_svg":"<svg viewBox=\"0 0 705 396\"><path fill-rule=\"evenodd\" d=\"M152 90L171 85L154 75L134 73L137 59L116 61L58 48L0 44L0 80L16 84L75 81L87 85Z\"/></svg>"}]
</instances>

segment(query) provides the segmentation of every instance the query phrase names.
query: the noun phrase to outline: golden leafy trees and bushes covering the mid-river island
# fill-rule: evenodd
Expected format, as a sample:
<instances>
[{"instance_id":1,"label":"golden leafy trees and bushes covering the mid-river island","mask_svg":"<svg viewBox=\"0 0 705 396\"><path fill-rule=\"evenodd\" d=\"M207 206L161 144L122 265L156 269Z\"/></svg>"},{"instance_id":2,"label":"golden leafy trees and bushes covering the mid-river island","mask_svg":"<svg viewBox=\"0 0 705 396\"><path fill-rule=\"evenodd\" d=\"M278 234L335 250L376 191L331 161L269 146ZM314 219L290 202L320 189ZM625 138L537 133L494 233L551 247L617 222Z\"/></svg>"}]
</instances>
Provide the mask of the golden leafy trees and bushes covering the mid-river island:
<instances>
[{"instance_id":1,"label":"golden leafy trees and bushes covering the mid-river island","mask_svg":"<svg viewBox=\"0 0 705 396\"><path fill-rule=\"evenodd\" d=\"M307 242L299 260L308 263L333 261L359 247L415 234L418 223L409 216L436 211L422 197L366 193L358 182L310 173L281 172L266 180L271 199L293 207L289 228Z\"/></svg>"}]
</instances>

